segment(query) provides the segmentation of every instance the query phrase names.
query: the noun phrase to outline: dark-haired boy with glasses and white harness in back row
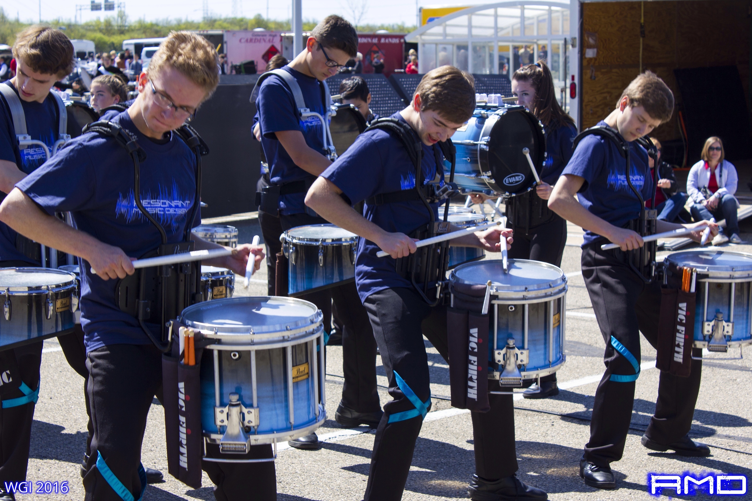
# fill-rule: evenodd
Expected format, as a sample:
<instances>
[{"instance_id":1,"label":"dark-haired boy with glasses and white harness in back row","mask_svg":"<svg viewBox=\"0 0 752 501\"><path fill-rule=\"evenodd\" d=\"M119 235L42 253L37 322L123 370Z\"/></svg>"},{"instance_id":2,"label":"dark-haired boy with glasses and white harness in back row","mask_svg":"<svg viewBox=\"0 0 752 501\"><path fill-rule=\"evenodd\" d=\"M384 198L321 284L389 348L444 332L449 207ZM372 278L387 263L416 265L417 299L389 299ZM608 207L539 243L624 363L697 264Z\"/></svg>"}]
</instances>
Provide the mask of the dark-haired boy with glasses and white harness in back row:
<instances>
[{"instance_id":1,"label":"dark-haired boy with glasses and white harness in back row","mask_svg":"<svg viewBox=\"0 0 752 501\"><path fill-rule=\"evenodd\" d=\"M302 94L308 110L326 119L328 89L323 81L337 74L338 69L356 55L357 47L358 35L353 26L339 16L329 16L314 28L305 49L290 64L262 76L265 80L258 87L256 109L259 110L261 143L273 185L263 192L262 207L267 213L279 213L285 231L296 226L327 223L326 219L305 207L304 198L308 188L332 163L326 157L329 152L324 150L324 124L316 116L302 117L296 104L296 92ZM289 75L278 73L280 71ZM299 91L287 83L286 79L290 77L295 80ZM274 200L276 187L279 197ZM265 197L270 197L271 201ZM331 324L328 318L332 312L332 300L344 324L344 385L335 419L345 427L359 424L378 426L383 412L376 391L376 342L355 284L350 282L300 297L325 312L327 332ZM290 441L290 445L315 449L318 448L318 438L316 433L311 433Z\"/></svg>"}]
</instances>

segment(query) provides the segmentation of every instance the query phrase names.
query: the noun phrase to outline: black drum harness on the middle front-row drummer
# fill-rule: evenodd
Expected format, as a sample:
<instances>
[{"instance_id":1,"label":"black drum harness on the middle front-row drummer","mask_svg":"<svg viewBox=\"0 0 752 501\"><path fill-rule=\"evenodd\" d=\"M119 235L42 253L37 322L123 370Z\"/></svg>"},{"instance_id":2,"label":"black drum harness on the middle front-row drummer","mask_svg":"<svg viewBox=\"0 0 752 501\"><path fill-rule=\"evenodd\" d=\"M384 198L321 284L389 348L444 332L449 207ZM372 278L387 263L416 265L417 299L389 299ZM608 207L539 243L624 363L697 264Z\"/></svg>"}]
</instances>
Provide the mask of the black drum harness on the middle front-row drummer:
<instances>
[{"instance_id":1,"label":"black drum harness on the middle front-row drummer","mask_svg":"<svg viewBox=\"0 0 752 501\"><path fill-rule=\"evenodd\" d=\"M459 189L454 184L456 148L452 140L447 139L438 143L444 158L450 161L451 164L449 183L444 183L443 176L438 174L438 165L441 164L438 152L435 153L437 164L436 177L425 183L421 165L423 162L423 143L413 128L405 122L400 122L398 119L381 118L372 122L363 132L373 129L387 131L398 138L403 146L405 146L408 157L410 157L415 166L415 188L400 190L399 192L380 193L367 198L365 203L379 206L398 202L421 201L426 206L426 210L428 210L429 224L414 229L408 236L423 240L450 231L450 223L447 222L449 202L453 196L459 195ZM444 200L446 200L444 205L444 221L437 222L430 204ZM438 305L443 298L442 291L444 290L444 285L446 285L448 266L448 240L434 243L430 246L419 247L413 254L395 260L396 272L403 278L410 280L415 290L420 294L420 297L430 306ZM432 288L436 289L435 298L429 299L429 289Z\"/></svg>"}]
</instances>

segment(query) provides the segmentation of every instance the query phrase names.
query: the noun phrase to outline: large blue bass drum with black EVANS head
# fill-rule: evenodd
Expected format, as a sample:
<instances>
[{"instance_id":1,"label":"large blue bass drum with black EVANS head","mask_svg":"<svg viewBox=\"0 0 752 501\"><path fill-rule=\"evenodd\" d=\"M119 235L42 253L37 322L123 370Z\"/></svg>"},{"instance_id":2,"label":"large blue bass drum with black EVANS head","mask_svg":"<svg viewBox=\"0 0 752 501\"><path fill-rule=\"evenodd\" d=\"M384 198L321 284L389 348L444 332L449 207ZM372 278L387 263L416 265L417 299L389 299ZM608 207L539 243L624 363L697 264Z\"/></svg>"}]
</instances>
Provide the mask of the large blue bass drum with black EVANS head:
<instances>
[{"instance_id":1,"label":"large blue bass drum with black EVANS head","mask_svg":"<svg viewBox=\"0 0 752 501\"><path fill-rule=\"evenodd\" d=\"M452 136L456 146L454 182L464 193L519 195L535 177L523 154L529 149L540 173L546 156L543 126L523 106L490 105L475 110ZM449 180L449 165L444 168Z\"/></svg>"}]
</instances>

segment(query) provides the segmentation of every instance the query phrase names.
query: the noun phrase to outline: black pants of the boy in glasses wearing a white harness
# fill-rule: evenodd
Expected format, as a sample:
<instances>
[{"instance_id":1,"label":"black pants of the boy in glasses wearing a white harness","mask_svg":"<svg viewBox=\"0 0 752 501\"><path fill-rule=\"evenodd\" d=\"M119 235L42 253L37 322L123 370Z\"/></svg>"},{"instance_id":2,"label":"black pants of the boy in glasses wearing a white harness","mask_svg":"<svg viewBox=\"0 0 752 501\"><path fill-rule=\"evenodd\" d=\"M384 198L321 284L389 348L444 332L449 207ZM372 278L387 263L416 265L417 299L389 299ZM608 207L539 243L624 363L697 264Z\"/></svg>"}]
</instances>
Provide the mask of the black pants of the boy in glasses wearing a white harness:
<instances>
[{"instance_id":1,"label":"black pants of the boy in glasses wearing a white harness","mask_svg":"<svg viewBox=\"0 0 752 501\"><path fill-rule=\"evenodd\" d=\"M320 225L326 221L308 214L281 216L282 228ZM299 296L311 301L324 312L324 327L329 332L331 321L326 312L336 305L338 321L342 329L342 405L356 412L378 412L381 409L376 391L376 340L368 321L368 313L360 302L355 282L332 287L313 294Z\"/></svg>"}]
</instances>

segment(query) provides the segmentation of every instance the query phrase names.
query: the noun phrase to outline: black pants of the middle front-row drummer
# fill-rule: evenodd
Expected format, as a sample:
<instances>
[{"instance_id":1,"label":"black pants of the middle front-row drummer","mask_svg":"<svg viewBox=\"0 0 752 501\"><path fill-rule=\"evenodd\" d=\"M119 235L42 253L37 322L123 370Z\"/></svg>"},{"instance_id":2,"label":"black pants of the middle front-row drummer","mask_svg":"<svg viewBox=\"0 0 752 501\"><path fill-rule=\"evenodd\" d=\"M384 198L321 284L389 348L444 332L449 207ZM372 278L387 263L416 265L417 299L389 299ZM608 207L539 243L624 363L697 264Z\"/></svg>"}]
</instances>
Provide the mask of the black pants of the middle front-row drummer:
<instances>
[{"instance_id":1,"label":"black pants of the middle front-row drummer","mask_svg":"<svg viewBox=\"0 0 752 501\"><path fill-rule=\"evenodd\" d=\"M417 417L389 422L398 412L415 409L399 389L395 373L425 403L431 396L425 335L448 360L447 312L431 308L411 288L374 292L365 300L381 361L389 379L393 400L384 405L384 417L376 431L371 470L365 490L366 501L401 499L423 419ZM498 385L489 386L498 391ZM514 448L514 409L509 395L489 395L490 412L472 412L475 472L486 480L498 480L517 471Z\"/></svg>"}]
</instances>

